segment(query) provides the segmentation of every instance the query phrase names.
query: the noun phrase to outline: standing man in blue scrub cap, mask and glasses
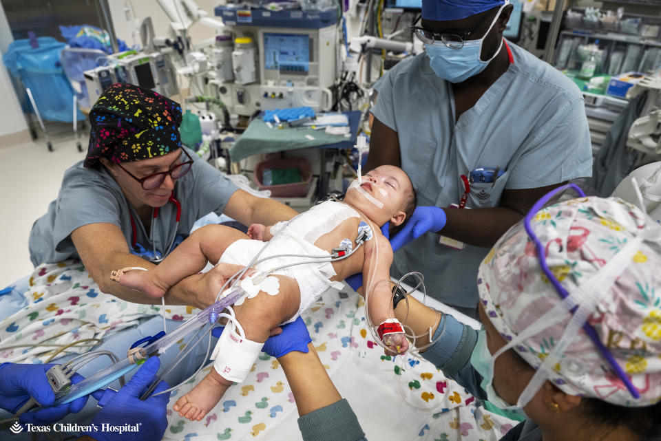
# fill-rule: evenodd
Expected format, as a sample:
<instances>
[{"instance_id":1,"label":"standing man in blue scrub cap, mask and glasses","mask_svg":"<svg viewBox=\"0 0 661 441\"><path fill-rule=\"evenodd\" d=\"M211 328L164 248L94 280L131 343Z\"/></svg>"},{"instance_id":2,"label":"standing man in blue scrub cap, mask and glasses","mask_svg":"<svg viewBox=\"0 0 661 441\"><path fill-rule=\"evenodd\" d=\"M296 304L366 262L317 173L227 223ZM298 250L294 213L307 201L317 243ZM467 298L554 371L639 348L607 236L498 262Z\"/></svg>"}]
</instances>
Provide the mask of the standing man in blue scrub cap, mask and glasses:
<instances>
[{"instance_id":1,"label":"standing man in blue scrub cap, mask and glasses","mask_svg":"<svg viewBox=\"0 0 661 441\"><path fill-rule=\"evenodd\" d=\"M401 166L419 203L394 246L423 237L395 253L393 275L423 272L432 297L471 316L488 247L550 189L592 172L583 96L503 39L512 9L423 0L412 30L426 50L388 72L372 110L366 170Z\"/></svg>"}]
</instances>

